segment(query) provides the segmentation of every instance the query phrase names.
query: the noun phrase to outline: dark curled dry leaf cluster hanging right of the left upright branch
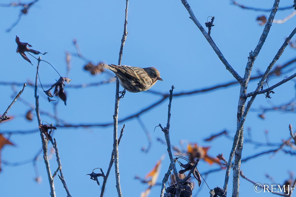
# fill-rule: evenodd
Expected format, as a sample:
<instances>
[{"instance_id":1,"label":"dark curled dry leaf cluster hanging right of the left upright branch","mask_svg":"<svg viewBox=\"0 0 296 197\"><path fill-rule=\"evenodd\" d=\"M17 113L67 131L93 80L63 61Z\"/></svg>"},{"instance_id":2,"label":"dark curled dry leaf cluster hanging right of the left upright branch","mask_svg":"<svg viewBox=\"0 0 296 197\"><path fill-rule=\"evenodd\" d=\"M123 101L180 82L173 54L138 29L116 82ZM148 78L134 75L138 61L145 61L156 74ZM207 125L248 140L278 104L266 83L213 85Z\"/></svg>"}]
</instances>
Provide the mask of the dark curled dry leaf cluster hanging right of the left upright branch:
<instances>
[{"instance_id":1,"label":"dark curled dry leaf cluster hanging right of the left upright branch","mask_svg":"<svg viewBox=\"0 0 296 197\"><path fill-rule=\"evenodd\" d=\"M65 86L65 82L67 82L69 84L69 82L71 81L71 79L67 78L67 77L60 77L59 80L54 83L52 85L51 88L49 88L48 90L44 91L45 94L49 97L54 97L54 96L59 96L60 99L62 99L62 101L65 102L65 105L66 104L66 101L67 101L67 95L64 91L64 86ZM51 89L54 88L54 94L52 95L51 93ZM52 99L49 99L48 98L48 101L55 101L55 100L52 100Z\"/></svg>"}]
</instances>

